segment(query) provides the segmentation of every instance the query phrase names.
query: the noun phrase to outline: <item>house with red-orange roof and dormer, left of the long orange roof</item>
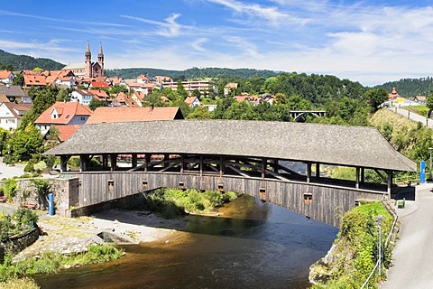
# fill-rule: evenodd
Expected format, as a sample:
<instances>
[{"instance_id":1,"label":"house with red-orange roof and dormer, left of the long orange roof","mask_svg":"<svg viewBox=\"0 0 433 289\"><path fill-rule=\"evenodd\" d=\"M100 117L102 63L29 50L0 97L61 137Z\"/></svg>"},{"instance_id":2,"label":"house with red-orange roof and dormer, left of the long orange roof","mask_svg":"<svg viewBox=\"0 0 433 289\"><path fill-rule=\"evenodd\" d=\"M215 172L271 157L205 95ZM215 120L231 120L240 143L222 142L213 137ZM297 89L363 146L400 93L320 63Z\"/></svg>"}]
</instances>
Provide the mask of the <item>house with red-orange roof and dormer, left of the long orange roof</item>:
<instances>
[{"instance_id":1,"label":"house with red-orange roof and dormer, left of the long orange roof","mask_svg":"<svg viewBox=\"0 0 433 289\"><path fill-rule=\"evenodd\" d=\"M78 102L56 102L42 112L34 124L45 135L51 126L84 125L91 115L92 110Z\"/></svg>"}]
</instances>

